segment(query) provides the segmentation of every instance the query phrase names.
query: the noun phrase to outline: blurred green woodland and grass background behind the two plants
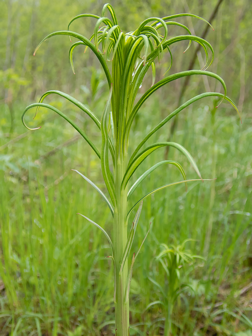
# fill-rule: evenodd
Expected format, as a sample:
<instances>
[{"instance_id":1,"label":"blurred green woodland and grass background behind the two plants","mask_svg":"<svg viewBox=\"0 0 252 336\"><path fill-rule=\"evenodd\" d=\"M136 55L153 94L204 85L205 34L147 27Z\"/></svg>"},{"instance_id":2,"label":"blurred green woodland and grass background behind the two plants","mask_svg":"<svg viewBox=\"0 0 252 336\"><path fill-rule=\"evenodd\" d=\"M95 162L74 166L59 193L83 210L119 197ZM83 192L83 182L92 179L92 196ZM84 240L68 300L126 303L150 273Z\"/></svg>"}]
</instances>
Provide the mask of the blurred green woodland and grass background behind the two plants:
<instances>
[{"instance_id":1,"label":"blurred green woodland and grass background behind the two plants","mask_svg":"<svg viewBox=\"0 0 252 336\"><path fill-rule=\"evenodd\" d=\"M102 190L105 184L95 155L65 120L52 111L29 110L27 130L21 116L47 90L61 90L86 104L101 117L108 96L105 76L90 50L74 51L75 73L69 62L67 36L38 43L49 33L67 30L81 13L100 15L103 2L72 0L1 0L0 45L0 334L112 335L114 334L113 267L106 239L80 212L111 232L112 218L99 194L71 169L78 169ZM252 102L250 0L124 0L111 1L119 25L134 31L148 17L193 13L209 20L213 31L197 18L176 20L214 49L211 72L221 76L227 95L241 112L226 102L204 98L183 110L154 138L173 139L194 157L204 183L173 186L143 204L134 249L150 222L151 230L133 271L130 295L130 335L163 335L165 312L159 301L168 293L169 279L157 260L160 244L185 245L204 257L178 265L180 284L173 315L174 335L252 335ZM92 35L96 20L76 20L71 30ZM184 34L174 26L169 35ZM186 42L171 46L169 73L203 68L202 49ZM170 65L164 53L156 65L156 81ZM191 76L190 76L191 77ZM146 75L139 97L151 85ZM139 111L129 152L159 121L194 95L222 92L214 79L192 76L157 91ZM99 146L97 129L89 119L59 96L45 102L60 109L85 129ZM154 139L154 140L155 140ZM156 153L156 152L155 152ZM145 160L149 168L163 158L182 163L187 178L193 169L177 152L160 150ZM142 168L143 169L143 168ZM146 170L146 169L145 169ZM135 178L143 173L141 168ZM159 168L136 190L130 204L155 187L181 179L174 168ZM132 218L133 220L133 218ZM106 279L106 281L104 281ZM150 280L152 279L152 280ZM157 285L159 284L159 286ZM168 294L167 294L168 295ZM155 303L156 302L156 303ZM155 303L155 304L153 304Z\"/></svg>"}]
</instances>

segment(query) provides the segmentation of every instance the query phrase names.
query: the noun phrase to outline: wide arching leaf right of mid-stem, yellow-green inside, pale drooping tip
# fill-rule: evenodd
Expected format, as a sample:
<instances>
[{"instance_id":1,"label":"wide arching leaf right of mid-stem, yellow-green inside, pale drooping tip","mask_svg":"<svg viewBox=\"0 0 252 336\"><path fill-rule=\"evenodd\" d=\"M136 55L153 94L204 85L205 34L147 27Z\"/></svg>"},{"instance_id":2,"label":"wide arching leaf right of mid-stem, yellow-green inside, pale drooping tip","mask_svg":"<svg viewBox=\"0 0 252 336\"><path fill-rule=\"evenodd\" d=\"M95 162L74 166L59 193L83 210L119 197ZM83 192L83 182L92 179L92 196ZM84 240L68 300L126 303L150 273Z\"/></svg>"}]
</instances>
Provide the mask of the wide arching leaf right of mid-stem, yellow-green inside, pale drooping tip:
<instances>
[{"instance_id":1,"label":"wide arching leaf right of mid-stem, yellow-green inside, pale drooping tip","mask_svg":"<svg viewBox=\"0 0 252 336\"><path fill-rule=\"evenodd\" d=\"M137 167L145 160L152 152L156 151L157 149L164 147L164 146L172 146L179 150L184 156L187 158L187 160L191 163L194 170L196 171L197 175L201 178L199 168L197 167L196 162L194 161L191 154L180 144L176 142L157 142L152 144L151 146L148 146L145 150L140 152L134 160L128 164L127 170L125 172L125 175L122 180L122 188L125 189L130 177L134 173L134 171L137 169Z\"/></svg>"}]
</instances>

